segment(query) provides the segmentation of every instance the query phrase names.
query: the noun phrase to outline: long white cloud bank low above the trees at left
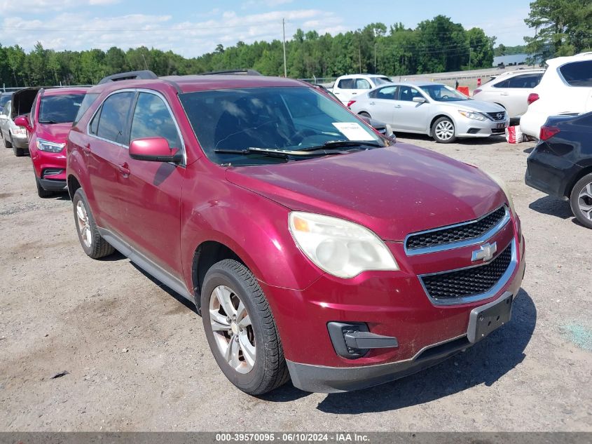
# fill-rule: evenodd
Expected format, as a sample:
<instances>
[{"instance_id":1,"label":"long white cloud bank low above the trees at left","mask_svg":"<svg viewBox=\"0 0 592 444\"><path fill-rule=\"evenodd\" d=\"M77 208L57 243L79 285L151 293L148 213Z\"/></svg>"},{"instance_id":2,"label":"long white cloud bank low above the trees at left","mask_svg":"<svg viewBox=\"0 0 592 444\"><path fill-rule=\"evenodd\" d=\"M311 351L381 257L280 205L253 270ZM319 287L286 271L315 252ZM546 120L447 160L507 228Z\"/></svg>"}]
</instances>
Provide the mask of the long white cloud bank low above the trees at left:
<instances>
[{"instance_id":1,"label":"long white cloud bank low above the trees at left","mask_svg":"<svg viewBox=\"0 0 592 444\"><path fill-rule=\"evenodd\" d=\"M134 14L97 18L90 12L58 11L43 20L16 16L4 18L0 21L0 41L5 46L18 44L26 51L36 41L41 41L44 48L56 51L81 51L90 48L107 50L111 46L125 50L147 46L163 51L172 50L185 57L195 57L214 51L217 43L233 46L238 41L252 43L256 40L282 39L282 18L287 20L288 37L298 27L305 31L316 29L322 34L345 30L340 25L341 19L334 13L318 9L244 15L235 11L214 10L207 17L202 17L202 20L182 22L175 22L171 15Z\"/></svg>"}]
</instances>

